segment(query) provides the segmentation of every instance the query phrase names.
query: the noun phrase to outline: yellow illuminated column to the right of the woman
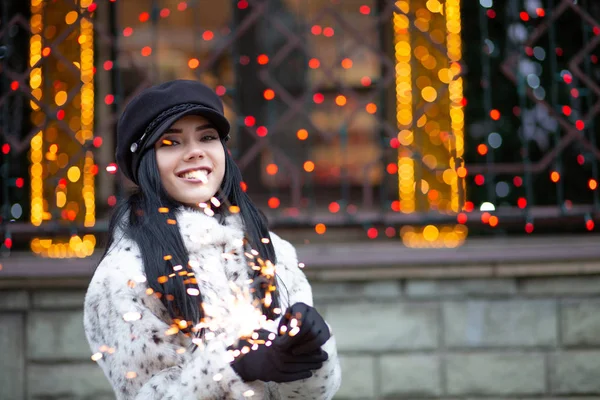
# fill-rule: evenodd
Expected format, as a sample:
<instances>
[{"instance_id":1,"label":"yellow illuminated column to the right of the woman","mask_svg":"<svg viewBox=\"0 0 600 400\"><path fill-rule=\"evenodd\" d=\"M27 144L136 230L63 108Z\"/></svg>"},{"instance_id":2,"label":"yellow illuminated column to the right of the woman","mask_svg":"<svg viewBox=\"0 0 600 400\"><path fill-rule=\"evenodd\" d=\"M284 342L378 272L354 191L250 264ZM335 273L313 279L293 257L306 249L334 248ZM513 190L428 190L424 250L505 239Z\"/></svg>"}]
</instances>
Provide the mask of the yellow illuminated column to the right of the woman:
<instances>
[{"instance_id":1,"label":"yellow illuminated column to the right of the woman","mask_svg":"<svg viewBox=\"0 0 600 400\"><path fill-rule=\"evenodd\" d=\"M400 211L455 216L466 169L460 0L397 1L394 13ZM410 17L410 19L409 19ZM410 247L456 247L461 224L405 226Z\"/></svg>"}]
</instances>

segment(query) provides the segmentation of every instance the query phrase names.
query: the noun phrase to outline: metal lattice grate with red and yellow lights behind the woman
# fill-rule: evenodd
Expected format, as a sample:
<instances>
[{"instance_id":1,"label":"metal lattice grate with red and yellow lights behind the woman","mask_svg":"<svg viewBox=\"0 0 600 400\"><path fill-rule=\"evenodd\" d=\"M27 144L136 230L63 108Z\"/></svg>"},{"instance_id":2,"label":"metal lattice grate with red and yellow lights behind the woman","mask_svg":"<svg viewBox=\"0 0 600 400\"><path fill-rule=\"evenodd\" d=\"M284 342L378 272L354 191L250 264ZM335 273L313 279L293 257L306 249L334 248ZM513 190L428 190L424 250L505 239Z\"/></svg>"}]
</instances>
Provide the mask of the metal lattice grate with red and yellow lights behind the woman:
<instances>
[{"instance_id":1,"label":"metal lattice grate with red and yellow lights behind the woman","mask_svg":"<svg viewBox=\"0 0 600 400\"><path fill-rule=\"evenodd\" d=\"M600 4L571 0L6 0L3 249L85 257L130 188L127 101L200 79L279 225L456 246L594 230Z\"/></svg>"}]
</instances>

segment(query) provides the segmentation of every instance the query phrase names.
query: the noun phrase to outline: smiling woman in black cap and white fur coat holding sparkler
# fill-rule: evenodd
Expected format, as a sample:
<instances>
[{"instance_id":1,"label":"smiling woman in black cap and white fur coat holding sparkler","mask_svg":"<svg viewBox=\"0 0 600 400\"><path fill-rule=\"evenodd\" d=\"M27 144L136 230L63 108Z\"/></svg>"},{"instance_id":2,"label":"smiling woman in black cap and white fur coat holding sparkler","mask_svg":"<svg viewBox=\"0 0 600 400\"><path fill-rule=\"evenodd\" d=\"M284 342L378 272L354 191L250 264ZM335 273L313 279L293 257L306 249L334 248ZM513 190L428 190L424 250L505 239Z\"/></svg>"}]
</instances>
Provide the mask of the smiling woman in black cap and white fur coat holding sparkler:
<instances>
[{"instance_id":1,"label":"smiling woman in black cap and white fur coat holding sparkler","mask_svg":"<svg viewBox=\"0 0 600 400\"><path fill-rule=\"evenodd\" d=\"M84 325L118 399L330 399L341 373L295 249L270 233L225 147L220 98L147 89L117 125L137 184L111 219Z\"/></svg>"}]
</instances>

